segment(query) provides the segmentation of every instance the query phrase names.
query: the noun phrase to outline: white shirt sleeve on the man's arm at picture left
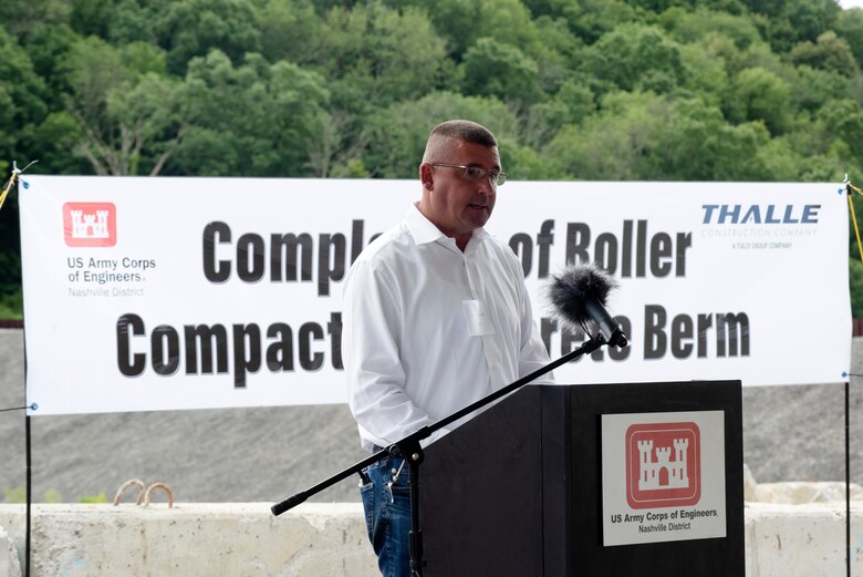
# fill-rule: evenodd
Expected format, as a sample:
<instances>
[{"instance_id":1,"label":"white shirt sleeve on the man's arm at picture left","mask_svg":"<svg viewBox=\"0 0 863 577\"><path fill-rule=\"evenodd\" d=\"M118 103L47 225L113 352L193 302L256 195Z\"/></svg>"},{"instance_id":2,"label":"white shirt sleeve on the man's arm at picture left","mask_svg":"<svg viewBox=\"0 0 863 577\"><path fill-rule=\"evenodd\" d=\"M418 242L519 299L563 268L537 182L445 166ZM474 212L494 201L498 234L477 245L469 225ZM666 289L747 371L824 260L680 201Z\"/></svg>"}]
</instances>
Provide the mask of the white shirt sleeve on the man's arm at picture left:
<instances>
[{"instance_id":1,"label":"white shirt sleeve on the man's arm at picture left","mask_svg":"<svg viewBox=\"0 0 863 577\"><path fill-rule=\"evenodd\" d=\"M387 446L432 419L405 391L402 311L395 282L368 261L351 269L344 291L342 354L349 405L363 447Z\"/></svg>"}]
</instances>

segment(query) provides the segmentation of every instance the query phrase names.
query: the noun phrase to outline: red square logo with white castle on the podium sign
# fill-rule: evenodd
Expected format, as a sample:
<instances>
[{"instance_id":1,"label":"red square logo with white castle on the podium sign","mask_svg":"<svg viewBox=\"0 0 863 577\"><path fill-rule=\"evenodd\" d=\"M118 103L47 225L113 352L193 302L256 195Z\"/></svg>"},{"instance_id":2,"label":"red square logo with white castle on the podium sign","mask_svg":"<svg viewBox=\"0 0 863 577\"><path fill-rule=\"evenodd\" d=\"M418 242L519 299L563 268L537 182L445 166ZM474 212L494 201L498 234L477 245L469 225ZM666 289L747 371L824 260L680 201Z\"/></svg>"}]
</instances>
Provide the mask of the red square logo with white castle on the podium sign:
<instances>
[{"instance_id":1,"label":"red square logo with white castle on the podium sign","mask_svg":"<svg viewBox=\"0 0 863 577\"><path fill-rule=\"evenodd\" d=\"M698 425L634 424L626 430L626 501L632 508L695 505L701 497Z\"/></svg>"}]
</instances>

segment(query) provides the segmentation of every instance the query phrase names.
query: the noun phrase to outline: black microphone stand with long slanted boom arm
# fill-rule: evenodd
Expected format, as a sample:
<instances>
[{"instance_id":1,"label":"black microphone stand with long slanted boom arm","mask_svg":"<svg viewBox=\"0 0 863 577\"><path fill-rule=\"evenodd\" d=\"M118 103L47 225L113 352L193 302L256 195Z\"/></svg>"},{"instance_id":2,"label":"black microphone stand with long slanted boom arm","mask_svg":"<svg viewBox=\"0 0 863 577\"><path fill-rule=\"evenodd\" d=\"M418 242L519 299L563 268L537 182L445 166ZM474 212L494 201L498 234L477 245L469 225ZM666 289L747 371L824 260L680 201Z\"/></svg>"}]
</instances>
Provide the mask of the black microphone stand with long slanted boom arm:
<instances>
[{"instance_id":1,"label":"black microphone stand with long slanted boom arm","mask_svg":"<svg viewBox=\"0 0 863 577\"><path fill-rule=\"evenodd\" d=\"M558 367L561 367L562 364L565 364L570 361L578 360L584 354L590 354L591 352L595 351L603 344L625 347L626 337L623 334L623 332L620 331L620 329L615 330L610 336L609 340L606 340L602 333L592 337L589 341L583 343L581 347L579 347L573 351L570 351L569 353L564 354L560 359L552 361L545 367L542 367L541 369L538 369L532 373L522 377L518 381L514 381L508 384L507 387L484 396L482 399L465 406L464 409L456 411L449 416L445 416L440 421L437 421L435 423L432 423L430 425L426 425L419 429L415 433L407 435L406 437L393 443L386 449L382 449L381 451L373 453L367 458L364 458L363 461L360 461L358 463L351 465L350 467L345 468L341 473L337 473L331 476L330 478L326 478L305 491L301 491L300 493L297 493L295 495L292 495L285 498L284 501L277 503L275 505L270 507L270 511L272 512L273 515L279 516L285 511L289 511L295 507L297 505L299 505L300 503L303 503L310 496L315 495L321 491L334 485L335 483L347 478L352 474L354 473L360 474L360 472L363 468L377 463L378 461L386 457L387 455L402 456L405 458L405 461L407 461L409 467L408 486L410 487L410 533L409 533L410 575L412 577L422 577L424 561L423 561L423 534L419 525L419 465L423 463L425 455L423 453L423 447L419 445L419 441L428 437L435 431L443 429L455 421L458 421L462 416L466 416L472 413L474 411L481 409L487 404L492 403L493 401L497 401L498 399L517 391L518 389L521 389L523 385L528 384L534 379L538 379L539 377L542 377L548 372L553 371Z\"/></svg>"}]
</instances>

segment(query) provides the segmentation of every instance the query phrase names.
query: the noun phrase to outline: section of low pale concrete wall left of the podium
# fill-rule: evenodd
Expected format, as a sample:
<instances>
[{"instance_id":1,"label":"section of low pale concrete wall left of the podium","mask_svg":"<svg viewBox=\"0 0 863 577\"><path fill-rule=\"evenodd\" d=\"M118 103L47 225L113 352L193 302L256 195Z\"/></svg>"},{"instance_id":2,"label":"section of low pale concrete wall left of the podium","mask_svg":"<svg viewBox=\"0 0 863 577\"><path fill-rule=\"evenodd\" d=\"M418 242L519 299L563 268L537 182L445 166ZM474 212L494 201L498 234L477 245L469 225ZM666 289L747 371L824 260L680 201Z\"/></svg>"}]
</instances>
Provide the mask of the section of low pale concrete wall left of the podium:
<instances>
[{"instance_id":1,"label":"section of low pale concrete wall left of the podium","mask_svg":"<svg viewBox=\"0 0 863 577\"><path fill-rule=\"evenodd\" d=\"M374 575L375 559L358 505L301 505L280 517L273 517L269 507L35 505L31 576ZM14 537L19 550L24 523L22 505L0 505L0 526Z\"/></svg>"}]
</instances>

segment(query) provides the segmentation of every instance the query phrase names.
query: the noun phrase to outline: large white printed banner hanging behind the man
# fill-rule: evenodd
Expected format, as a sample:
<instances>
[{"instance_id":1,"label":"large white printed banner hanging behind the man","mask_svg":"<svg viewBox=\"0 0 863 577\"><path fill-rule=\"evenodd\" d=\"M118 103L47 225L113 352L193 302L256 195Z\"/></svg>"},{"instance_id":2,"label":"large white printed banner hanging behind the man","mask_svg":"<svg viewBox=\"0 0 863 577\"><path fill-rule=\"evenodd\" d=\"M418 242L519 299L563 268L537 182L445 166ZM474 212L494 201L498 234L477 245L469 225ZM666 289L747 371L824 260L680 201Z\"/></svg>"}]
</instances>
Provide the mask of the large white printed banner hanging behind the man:
<instances>
[{"instance_id":1,"label":"large white printed banner hanging behind the man","mask_svg":"<svg viewBox=\"0 0 863 577\"><path fill-rule=\"evenodd\" d=\"M21 188L31 414L340 403L342 280L418 198L408 181L30 176ZM620 280L631 346L562 383L841 382L848 216L834 184L501 187L552 359L583 341L544 290L568 260Z\"/></svg>"}]
</instances>

